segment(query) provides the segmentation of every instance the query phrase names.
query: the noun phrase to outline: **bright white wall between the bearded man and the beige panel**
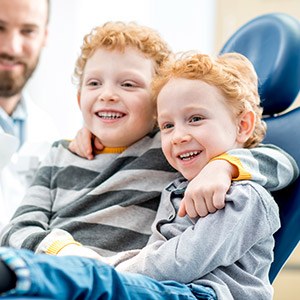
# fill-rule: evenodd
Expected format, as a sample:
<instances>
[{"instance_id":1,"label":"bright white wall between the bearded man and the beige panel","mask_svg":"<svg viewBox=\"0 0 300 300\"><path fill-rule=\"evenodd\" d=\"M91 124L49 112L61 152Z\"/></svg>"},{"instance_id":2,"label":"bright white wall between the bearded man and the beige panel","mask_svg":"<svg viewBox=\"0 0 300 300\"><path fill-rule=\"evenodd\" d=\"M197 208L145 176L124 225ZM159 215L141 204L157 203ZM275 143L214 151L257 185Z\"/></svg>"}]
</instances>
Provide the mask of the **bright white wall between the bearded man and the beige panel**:
<instances>
[{"instance_id":1,"label":"bright white wall between the bearded man and the beige panel","mask_svg":"<svg viewBox=\"0 0 300 300\"><path fill-rule=\"evenodd\" d=\"M51 0L49 40L27 90L55 120L62 138L82 126L71 78L83 36L107 21L158 30L173 51L214 47L215 0Z\"/></svg>"}]
</instances>

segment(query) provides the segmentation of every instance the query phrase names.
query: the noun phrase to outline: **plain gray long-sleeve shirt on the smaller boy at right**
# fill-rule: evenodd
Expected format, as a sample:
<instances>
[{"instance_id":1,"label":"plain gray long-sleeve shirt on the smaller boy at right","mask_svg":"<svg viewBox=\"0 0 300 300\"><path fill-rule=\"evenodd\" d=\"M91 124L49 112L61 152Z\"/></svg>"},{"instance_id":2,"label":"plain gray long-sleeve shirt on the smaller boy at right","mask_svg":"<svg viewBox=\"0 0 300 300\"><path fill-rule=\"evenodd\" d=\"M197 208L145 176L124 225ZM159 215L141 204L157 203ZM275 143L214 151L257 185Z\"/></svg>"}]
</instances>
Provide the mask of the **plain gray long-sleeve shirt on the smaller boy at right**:
<instances>
[{"instance_id":1,"label":"plain gray long-sleeve shirt on the smaller boy at right","mask_svg":"<svg viewBox=\"0 0 300 300\"><path fill-rule=\"evenodd\" d=\"M158 280L210 286L218 299L272 299L268 273L280 220L271 195L256 183L235 182L224 209L180 218L177 194L185 185L176 180L163 192L148 246L120 253L111 264Z\"/></svg>"}]
</instances>

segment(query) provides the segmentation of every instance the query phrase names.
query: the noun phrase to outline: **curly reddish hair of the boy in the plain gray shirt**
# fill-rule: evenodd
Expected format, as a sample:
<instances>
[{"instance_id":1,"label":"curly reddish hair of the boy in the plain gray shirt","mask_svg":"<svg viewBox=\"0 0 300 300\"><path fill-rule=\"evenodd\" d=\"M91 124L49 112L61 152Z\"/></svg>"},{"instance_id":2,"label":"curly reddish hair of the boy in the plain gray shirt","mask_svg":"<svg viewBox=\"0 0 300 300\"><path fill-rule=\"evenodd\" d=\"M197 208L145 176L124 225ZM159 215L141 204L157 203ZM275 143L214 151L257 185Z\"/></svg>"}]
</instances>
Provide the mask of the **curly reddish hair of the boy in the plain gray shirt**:
<instances>
[{"instance_id":1,"label":"curly reddish hair of the boy in the plain gray shirt","mask_svg":"<svg viewBox=\"0 0 300 300\"><path fill-rule=\"evenodd\" d=\"M153 100L172 78L201 80L216 86L225 96L234 115L244 111L255 113L255 129L244 147L252 148L262 141L266 124L258 94L258 78L252 63L242 54L226 53L213 58L206 54L184 53L175 61L167 62L152 83Z\"/></svg>"}]
</instances>

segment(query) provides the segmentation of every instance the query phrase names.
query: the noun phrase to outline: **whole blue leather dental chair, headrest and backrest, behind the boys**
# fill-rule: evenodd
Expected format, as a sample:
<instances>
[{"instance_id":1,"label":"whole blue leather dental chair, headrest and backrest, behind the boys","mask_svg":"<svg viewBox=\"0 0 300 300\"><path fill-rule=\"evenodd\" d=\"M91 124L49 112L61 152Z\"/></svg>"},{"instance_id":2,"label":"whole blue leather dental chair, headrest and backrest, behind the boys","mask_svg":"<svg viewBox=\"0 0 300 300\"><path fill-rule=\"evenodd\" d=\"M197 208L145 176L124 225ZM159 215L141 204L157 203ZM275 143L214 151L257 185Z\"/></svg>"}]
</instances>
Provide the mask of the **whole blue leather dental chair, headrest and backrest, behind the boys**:
<instances>
[{"instance_id":1,"label":"whole blue leather dental chair, headrest and backrest, behind the boys","mask_svg":"<svg viewBox=\"0 0 300 300\"><path fill-rule=\"evenodd\" d=\"M282 114L300 90L300 21L283 13L259 16L229 38L221 50L227 52L242 53L257 71L268 126L264 143L281 147L300 167L300 107ZM271 282L300 240L300 178L273 196L279 205L281 228L275 234Z\"/></svg>"}]
</instances>

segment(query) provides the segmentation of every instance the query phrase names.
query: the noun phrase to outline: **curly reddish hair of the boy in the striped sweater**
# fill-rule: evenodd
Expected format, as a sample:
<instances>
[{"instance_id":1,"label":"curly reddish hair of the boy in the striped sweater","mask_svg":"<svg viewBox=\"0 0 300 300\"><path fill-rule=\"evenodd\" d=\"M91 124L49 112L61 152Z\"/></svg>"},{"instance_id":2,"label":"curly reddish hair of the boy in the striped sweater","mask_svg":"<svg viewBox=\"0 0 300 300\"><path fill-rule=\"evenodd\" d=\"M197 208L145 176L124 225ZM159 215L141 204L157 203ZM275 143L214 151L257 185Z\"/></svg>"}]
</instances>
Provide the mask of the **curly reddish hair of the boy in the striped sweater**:
<instances>
[{"instance_id":1,"label":"curly reddish hair of the boy in the striped sweater","mask_svg":"<svg viewBox=\"0 0 300 300\"><path fill-rule=\"evenodd\" d=\"M134 22L107 22L93 28L83 39L73 75L79 88L86 62L97 49L125 51L126 47L137 49L153 59L155 72L171 54L168 44L155 30Z\"/></svg>"}]
</instances>

